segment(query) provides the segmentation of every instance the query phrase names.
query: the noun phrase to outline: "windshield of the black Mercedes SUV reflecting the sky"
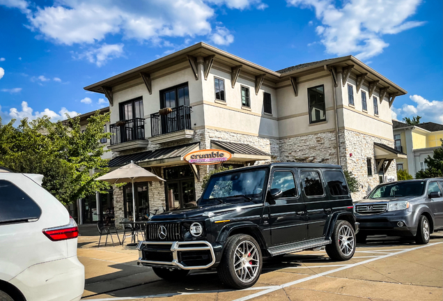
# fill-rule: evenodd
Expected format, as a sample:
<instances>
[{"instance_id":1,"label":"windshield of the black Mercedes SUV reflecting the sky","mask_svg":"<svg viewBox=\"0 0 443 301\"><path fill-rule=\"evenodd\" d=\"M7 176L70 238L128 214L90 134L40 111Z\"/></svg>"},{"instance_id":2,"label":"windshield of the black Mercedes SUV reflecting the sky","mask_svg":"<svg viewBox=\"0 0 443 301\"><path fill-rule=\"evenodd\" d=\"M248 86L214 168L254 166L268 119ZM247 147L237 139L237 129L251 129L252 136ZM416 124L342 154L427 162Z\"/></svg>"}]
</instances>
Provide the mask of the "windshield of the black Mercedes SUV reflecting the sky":
<instances>
[{"instance_id":1,"label":"windshield of the black Mercedes SUV reflecting the sky","mask_svg":"<svg viewBox=\"0 0 443 301\"><path fill-rule=\"evenodd\" d=\"M238 171L212 176L200 201L200 205L219 201L261 200L266 178L266 169Z\"/></svg>"}]
</instances>

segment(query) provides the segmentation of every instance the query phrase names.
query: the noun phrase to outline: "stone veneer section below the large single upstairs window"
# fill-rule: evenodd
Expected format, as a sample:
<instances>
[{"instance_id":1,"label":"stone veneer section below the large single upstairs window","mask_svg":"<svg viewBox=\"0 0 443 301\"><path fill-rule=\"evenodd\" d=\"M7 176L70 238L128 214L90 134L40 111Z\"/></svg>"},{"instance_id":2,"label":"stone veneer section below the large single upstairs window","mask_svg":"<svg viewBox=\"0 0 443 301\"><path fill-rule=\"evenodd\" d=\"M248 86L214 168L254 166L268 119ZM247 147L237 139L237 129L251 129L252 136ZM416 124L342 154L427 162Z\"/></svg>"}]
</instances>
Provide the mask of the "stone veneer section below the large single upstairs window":
<instances>
[{"instance_id":1,"label":"stone veneer section below the large single upstairs window","mask_svg":"<svg viewBox=\"0 0 443 301\"><path fill-rule=\"evenodd\" d=\"M337 164L335 132L322 132L279 141L282 162Z\"/></svg>"}]
</instances>

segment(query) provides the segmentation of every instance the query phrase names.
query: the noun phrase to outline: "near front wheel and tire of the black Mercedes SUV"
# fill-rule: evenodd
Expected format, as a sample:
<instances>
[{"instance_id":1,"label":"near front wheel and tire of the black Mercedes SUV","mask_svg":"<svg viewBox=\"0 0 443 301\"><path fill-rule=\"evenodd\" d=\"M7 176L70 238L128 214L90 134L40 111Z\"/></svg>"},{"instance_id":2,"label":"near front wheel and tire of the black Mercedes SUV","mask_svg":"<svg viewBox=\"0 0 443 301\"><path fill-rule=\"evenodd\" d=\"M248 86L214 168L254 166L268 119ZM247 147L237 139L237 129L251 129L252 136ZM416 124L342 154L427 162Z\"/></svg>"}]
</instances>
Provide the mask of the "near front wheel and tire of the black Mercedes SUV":
<instances>
[{"instance_id":1,"label":"near front wheel and tire of the black Mercedes SUV","mask_svg":"<svg viewBox=\"0 0 443 301\"><path fill-rule=\"evenodd\" d=\"M249 235L235 234L226 241L217 272L224 284L239 289L249 288L258 281L262 265L258 242Z\"/></svg>"}]
</instances>

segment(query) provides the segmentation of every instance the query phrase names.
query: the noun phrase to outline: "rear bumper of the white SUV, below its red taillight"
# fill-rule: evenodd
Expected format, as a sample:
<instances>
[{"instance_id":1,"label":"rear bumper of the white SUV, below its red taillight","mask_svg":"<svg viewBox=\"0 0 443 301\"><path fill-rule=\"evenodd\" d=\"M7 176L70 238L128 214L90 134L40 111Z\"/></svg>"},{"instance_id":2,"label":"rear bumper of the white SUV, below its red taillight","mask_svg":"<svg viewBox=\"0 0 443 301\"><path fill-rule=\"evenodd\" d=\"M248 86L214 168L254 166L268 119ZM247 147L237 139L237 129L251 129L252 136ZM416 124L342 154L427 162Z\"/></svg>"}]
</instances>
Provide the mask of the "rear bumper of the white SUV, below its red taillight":
<instances>
[{"instance_id":1,"label":"rear bumper of the white SUV, below its red taillight","mask_svg":"<svg viewBox=\"0 0 443 301\"><path fill-rule=\"evenodd\" d=\"M80 300L84 291L84 266L77 256L39 263L11 279L26 301Z\"/></svg>"}]
</instances>

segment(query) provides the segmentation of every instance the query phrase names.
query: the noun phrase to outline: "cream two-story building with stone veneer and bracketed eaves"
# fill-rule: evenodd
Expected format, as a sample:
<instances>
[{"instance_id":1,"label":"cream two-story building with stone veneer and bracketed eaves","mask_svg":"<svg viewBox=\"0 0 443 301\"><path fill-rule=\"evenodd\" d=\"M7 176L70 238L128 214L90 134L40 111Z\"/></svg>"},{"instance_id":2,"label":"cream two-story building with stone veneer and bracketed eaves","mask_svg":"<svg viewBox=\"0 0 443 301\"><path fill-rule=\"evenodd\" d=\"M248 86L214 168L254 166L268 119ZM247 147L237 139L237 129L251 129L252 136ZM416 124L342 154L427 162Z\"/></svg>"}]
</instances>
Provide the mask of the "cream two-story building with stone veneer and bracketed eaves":
<instances>
[{"instance_id":1,"label":"cream two-story building with stone veneer and bracketed eaves","mask_svg":"<svg viewBox=\"0 0 443 301\"><path fill-rule=\"evenodd\" d=\"M201 149L233 167L277 161L341 164L361 198L396 177L390 107L406 91L353 56L269 70L198 43L96 84L111 109L109 167L131 161L166 183L137 183L143 211L184 207L214 166L188 164ZM393 163L391 163L393 162ZM116 220L132 216L132 187L114 190Z\"/></svg>"}]
</instances>

